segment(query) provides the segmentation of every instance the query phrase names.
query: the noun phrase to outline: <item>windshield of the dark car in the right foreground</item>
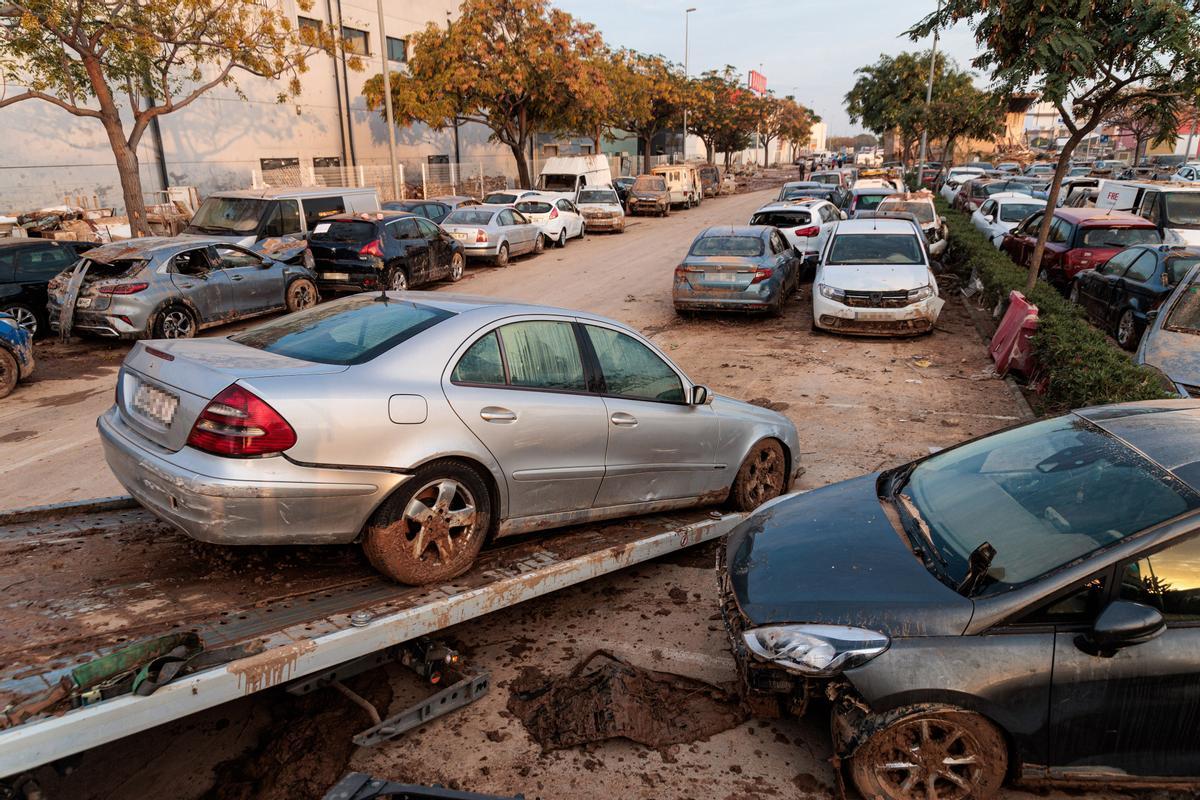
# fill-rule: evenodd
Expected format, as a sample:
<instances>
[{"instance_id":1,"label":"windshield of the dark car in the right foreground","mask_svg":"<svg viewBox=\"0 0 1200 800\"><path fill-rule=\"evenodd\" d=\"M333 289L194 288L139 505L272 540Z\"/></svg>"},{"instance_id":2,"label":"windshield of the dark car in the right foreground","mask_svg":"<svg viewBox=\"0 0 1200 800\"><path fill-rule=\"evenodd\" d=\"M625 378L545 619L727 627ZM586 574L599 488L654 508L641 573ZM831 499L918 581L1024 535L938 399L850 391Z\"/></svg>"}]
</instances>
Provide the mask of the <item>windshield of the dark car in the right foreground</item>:
<instances>
[{"instance_id":1,"label":"windshield of the dark car in the right foreground","mask_svg":"<svg viewBox=\"0 0 1200 800\"><path fill-rule=\"evenodd\" d=\"M920 462L902 493L959 583L995 548L984 579L1006 589L1200 507L1200 495L1120 439L1066 415Z\"/></svg>"}]
</instances>

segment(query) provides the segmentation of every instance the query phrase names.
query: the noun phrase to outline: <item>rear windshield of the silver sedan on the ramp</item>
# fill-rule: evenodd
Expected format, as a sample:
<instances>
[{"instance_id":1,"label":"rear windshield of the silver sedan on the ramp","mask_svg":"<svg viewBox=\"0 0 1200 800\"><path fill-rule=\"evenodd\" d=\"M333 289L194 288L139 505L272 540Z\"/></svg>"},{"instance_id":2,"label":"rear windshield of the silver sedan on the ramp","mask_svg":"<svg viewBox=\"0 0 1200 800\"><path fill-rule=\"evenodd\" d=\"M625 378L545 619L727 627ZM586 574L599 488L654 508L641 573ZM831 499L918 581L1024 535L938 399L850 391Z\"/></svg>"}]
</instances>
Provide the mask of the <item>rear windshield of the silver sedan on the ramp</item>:
<instances>
[{"instance_id":1,"label":"rear windshield of the silver sedan on the ramp","mask_svg":"<svg viewBox=\"0 0 1200 800\"><path fill-rule=\"evenodd\" d=\"M364 363L454 317L449 311L374 293L286 314L229 338L239 344L317 363Z\"/></svg>"}]
</instances>

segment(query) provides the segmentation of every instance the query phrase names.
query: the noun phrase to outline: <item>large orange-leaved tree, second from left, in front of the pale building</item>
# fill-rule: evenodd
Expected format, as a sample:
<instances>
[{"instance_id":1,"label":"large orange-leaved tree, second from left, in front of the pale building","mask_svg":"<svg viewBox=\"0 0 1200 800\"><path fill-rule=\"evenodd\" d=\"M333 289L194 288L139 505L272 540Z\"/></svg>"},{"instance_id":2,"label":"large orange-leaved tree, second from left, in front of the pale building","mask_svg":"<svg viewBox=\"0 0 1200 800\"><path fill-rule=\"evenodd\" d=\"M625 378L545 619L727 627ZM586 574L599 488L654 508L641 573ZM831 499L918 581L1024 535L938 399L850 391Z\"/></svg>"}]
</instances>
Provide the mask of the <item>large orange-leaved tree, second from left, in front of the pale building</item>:
<instances>
[{"instance_id":1,"label":"large orange-leaved tree, second from left, in front of the pale building","mask_svg":"<svg viewBox=\"0 0 1200 800\"><path fill-rule=\"evenodd\" d=\"M604 84L595 28L548 0L464 0L454 24L430 23L412 36L404 73L391 73L397 125L424 122L442 130L478 122L512 151L522 186L532 186L528 148L538 131L564 131L574 97ZM383 76L362 90L372 109L383 108Z\"/></svg>"}]
</instances>

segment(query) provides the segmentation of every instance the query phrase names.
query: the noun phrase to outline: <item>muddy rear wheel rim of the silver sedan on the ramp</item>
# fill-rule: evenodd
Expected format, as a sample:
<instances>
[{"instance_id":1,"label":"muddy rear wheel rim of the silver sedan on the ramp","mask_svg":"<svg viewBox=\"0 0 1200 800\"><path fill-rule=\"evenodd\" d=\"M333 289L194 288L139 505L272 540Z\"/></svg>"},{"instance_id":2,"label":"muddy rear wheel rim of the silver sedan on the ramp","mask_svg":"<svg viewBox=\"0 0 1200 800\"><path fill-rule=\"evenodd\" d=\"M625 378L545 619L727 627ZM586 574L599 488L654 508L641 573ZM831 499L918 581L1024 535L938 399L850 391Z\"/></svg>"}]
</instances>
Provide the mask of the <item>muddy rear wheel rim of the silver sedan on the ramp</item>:
<instances>
[{"instance_id":1,"label":"muddy rear wheel rim of the silver sedan on the ramp","mask_svg":"<svg viewBox=\"0 0 1200 800\"><path fill-rule=\"evenodd\" d=\"M476 535L475 498L443 477L422 486L404 506L404 539L413 561L449 564Z\"/></svg>"}]
</instances>

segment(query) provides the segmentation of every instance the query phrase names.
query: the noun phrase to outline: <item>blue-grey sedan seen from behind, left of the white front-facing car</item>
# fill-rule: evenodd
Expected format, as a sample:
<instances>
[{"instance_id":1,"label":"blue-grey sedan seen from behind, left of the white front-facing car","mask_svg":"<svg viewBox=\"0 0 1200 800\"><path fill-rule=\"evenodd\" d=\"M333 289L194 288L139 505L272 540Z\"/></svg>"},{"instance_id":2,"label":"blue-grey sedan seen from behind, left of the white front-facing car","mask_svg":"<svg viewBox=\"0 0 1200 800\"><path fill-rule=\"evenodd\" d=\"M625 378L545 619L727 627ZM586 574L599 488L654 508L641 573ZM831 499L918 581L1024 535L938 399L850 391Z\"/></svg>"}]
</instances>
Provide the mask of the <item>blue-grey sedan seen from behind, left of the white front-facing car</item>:
<instances>
[{"instance_id":1,"label":"blue-grey sedan seen from behind, left of the white front-facing car","mask_svg":"<svg viewBox=\"0 0 1200 800\"><path fill-rule=\"evenodd\" d=\"M796 291L800 257L778 228L706 228L674 271L678 312L743 311L779 315Z\"/></svg>"}]
</instances>

